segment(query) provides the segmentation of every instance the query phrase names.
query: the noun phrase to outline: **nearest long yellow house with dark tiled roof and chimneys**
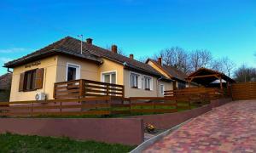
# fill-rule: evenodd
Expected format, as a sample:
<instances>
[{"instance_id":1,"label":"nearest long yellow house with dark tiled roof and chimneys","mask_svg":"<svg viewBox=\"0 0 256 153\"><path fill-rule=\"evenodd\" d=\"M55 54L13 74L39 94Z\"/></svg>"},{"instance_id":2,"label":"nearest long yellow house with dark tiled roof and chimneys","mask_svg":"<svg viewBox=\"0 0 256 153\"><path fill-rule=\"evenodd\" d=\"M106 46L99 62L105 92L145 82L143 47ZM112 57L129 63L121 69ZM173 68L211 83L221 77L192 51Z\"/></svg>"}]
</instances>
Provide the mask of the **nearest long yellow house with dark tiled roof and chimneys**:
<instances>
[{"instance_id":1,"label":"nearest long yellow house with dark tiled roof and chimneys","mask_svg":"<svg viewBox=\"0 0 256 153\"><path fill-rule=\"evenodd\" d=\"M91 38L81 42L65 37L32 54L9 61L4 67L13 69L10 101L34 100L38 93L54 99L56 82L79 79L122 85L124 97L158 97L163 96L161 85L172 88L170 77L137 61L132 54L125 57L117 50L116 45L111 50L97 47Z\"/></svg>"}]
</instances>

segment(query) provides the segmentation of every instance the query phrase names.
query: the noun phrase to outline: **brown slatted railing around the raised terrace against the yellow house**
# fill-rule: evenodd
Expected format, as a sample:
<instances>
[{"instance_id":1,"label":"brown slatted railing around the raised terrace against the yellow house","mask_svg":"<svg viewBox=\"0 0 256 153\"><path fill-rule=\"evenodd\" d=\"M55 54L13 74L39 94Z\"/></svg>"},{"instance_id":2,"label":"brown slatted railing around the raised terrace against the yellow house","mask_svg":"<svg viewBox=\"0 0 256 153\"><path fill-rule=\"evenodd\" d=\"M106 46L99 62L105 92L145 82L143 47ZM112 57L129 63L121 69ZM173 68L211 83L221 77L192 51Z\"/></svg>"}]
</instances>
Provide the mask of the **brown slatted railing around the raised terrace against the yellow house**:
<instances>
[{"instance_id":1,"label":"brown slatted railing around the raised terrace against the yellow house","mask_svg":"<svg viewBox=\"0 0 256 153\"><path fill-rule=\"evenodd\" d=\"M56 82L55 99L72 99L81 97L113 96L124 97L125 88L122 85L90 80L75 80L70 82Z\"/></svg>"}]
</instances>

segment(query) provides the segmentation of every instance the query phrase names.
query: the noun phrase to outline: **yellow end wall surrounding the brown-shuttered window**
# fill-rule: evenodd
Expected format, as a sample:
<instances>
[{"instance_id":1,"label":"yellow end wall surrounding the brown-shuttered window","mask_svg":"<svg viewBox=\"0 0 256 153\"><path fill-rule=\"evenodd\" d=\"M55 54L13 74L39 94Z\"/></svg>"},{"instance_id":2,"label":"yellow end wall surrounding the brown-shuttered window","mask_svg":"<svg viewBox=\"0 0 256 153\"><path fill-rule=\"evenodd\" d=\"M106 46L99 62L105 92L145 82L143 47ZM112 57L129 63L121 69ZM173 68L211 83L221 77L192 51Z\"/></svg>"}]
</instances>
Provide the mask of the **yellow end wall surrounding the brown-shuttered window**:
<instances>
[{"instance_id":1,"label":"yellow end wall surrounding the brown-shuttered window","mask_svg":"<svg viewBox=\"0 0 256 153\"><path fill-rule=\"evenodd\" d=\"M41 64L37 66L26 68L25 65L20 65L14 68L10 101L34 100L35 95L38 92L43 92L47 94L48 99L53 99L53 88L56 80L57 70L57 57L52 56L46 59L40 59L38 61L40 61ZM35 91L19 92L20 73L38 68L44 68L43 88Z\"/></svg>"}]
</instances>

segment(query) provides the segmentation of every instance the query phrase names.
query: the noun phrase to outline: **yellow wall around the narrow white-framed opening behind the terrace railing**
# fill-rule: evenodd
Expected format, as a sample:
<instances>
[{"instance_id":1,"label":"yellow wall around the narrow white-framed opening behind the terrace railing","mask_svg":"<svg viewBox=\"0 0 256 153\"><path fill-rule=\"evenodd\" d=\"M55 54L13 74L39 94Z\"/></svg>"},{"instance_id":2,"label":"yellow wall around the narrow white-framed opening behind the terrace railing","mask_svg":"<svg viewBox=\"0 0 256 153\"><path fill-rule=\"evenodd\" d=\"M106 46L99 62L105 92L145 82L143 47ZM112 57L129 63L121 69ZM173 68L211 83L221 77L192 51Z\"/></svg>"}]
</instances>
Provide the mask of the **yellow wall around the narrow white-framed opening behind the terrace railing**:
<instances>
[{"instance_id":1,"label":"yellow wall around the narrow white-framed opening behind the terrace railing","mask_svg":"<svg viewBox=\"0 0 256 153\"><path fill-rule=\"evenodd\" d=\"M85 59L74 59L73 57L58 56L57 61L57 77L56 82L66 82L67 81L67 63L80 66L80 78L100 81L99 71L96 63L90 62Z\"/></svg>"}]
</instances>

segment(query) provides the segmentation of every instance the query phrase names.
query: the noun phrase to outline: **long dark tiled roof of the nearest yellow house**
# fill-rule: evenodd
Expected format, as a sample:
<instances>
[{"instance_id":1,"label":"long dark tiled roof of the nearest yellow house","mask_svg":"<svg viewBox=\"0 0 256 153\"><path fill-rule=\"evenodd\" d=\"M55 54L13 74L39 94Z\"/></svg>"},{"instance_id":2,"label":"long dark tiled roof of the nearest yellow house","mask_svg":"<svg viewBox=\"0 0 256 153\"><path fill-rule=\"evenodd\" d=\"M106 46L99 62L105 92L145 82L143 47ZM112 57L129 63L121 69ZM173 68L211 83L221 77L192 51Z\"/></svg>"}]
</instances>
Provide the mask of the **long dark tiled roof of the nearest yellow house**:
<instances>
[{"instance_id":1,"label":"long dark tiled roof of the nearest yellow house","mask_svg":"<svg viewBox=\"0 0 256 153\"><path fill-rule=\"evenodd\" d=\"M26 56L10 61L4 65L4 67L15 67L16 65L24 64L36 58L43 58L44 55L51 54L69 54L77 56L84 59L90 59L101 63L101 58L107 58L119 62L124 65L125 68L130 68L136 71L143 71L155 76L162 77L162 75L155 71L150 65L137 61L135 59L130 59L121 54L114 54L105 48L100 48L95 45L89 44L87 42L83 43L83 54L80 54L80 40L73 37L65 37L60 41L54 42L45 48L41 48L32 54L27 54Z\"/></svg>"}]
</instances>

